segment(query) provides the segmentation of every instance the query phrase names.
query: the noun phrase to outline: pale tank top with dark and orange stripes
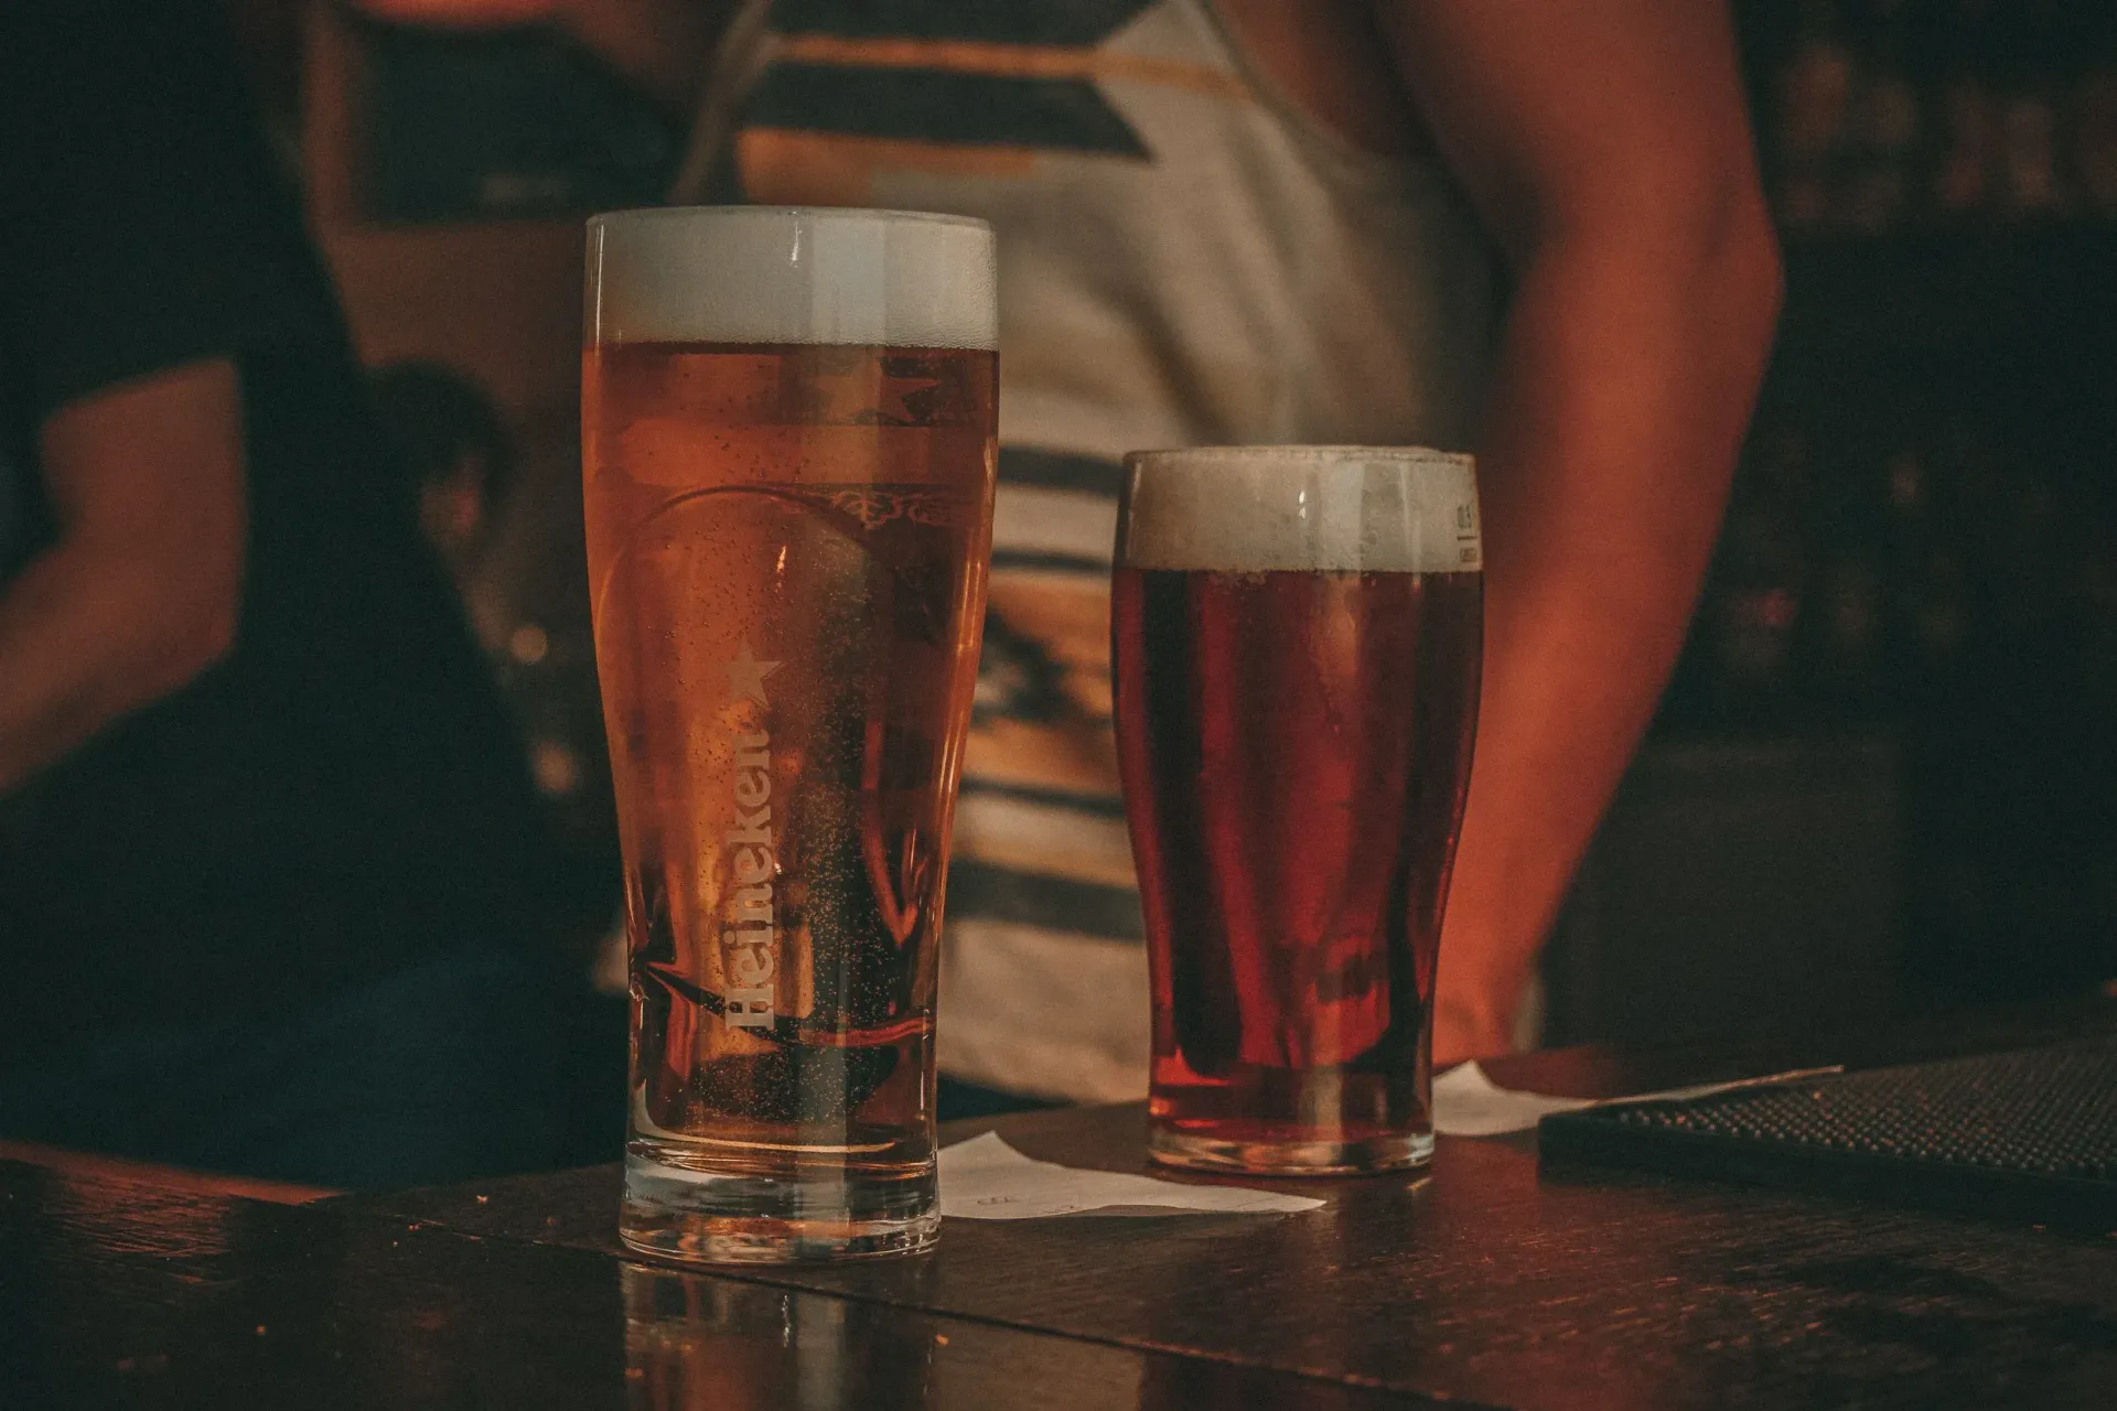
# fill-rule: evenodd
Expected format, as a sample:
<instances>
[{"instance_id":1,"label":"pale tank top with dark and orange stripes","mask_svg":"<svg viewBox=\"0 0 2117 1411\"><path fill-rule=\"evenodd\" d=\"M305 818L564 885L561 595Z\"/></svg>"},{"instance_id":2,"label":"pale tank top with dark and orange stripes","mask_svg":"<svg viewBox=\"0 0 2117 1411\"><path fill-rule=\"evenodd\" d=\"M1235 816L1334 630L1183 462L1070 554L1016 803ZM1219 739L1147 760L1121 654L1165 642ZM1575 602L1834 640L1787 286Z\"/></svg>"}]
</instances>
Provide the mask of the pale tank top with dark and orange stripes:
<instances>
[{"instance_id":1,"label":"pale tank top with dark and orange stripes","mask_svg":"<svg viewBox=\"0 0 2117 1411\"><path fill-rule=\"evenodd\" d=\"M940 1064L1073 1100L1147 1081L1109 692L1118 461L1467 448L1497 267L1431 161L1355 150L1211 0L775 0L722 51L680 199L999 233L991 609L942 941Z\"/></svg>"}]
</instances>

